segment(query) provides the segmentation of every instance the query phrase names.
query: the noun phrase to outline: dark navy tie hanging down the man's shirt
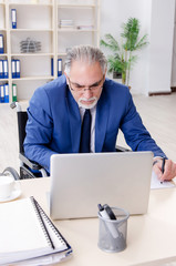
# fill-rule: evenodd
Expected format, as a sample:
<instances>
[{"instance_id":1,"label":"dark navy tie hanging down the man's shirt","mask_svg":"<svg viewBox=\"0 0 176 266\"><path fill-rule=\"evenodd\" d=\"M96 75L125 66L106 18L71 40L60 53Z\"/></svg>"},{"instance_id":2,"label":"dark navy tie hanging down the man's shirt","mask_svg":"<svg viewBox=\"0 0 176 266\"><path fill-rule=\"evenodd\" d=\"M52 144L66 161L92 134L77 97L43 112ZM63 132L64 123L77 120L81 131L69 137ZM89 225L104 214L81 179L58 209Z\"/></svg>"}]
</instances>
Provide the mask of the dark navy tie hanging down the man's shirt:
<instances>
[{"instance_id":1,"label":"dark navy tie hanging down the man's shirt","mask_svg":"<svg viewBox=\"0 0 176 266\"><path fill-rule=\"evenodd\" d=\"M91 112L86 109L81 127L80 153L90 153L91 151Z\"/></svg>"}]
</instances>

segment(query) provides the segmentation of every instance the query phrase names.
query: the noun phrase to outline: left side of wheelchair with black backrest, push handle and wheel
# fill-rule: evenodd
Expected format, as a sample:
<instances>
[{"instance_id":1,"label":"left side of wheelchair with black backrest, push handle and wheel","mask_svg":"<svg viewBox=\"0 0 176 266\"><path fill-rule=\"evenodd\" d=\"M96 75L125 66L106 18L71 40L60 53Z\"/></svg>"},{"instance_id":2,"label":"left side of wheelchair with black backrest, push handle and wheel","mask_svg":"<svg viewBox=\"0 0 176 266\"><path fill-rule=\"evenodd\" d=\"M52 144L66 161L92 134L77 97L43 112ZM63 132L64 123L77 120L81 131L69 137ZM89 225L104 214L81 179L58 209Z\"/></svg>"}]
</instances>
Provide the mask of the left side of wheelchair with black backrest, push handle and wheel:
<instances>
[{"instance_id":1,"label":"left side of wheelchair with black backrest, push handle and wheel","mask_svg":"<svg viewBox=\"0 0 176 266\"><path fill-rule=\"evenodd\" d=\"M12 175L14 180L25 180L48 176L46 171L38 163L30 161L24 155L23 142L25 139L25 124L28 121L27 111L22 111L18 102L10 104L11 109L17 108L18 134L19 134L19 158L20 158L20 176L12 167L7 167L2 174Z\"/></svg>"}]
</instances>

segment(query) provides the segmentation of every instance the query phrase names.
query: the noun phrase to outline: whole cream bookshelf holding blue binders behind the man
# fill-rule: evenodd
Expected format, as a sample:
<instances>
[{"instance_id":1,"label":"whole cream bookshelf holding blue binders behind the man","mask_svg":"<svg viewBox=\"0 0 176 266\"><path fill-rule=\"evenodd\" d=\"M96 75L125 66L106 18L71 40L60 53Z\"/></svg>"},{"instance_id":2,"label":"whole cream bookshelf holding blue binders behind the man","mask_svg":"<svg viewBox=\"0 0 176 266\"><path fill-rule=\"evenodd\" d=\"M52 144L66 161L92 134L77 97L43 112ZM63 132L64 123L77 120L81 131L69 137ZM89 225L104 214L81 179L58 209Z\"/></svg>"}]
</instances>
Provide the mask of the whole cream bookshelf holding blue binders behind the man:
<instances>
[{"instance_id":1,"label":"whole cream bookshelf holding blue binders behind the man","mask_svg":"<svg viewBox=\"0 0 176 266\"><path fill-rule=\"evenodd\" d=\"M12 29L12 9L17 13L15 29ZM61 27L60 21L66 20L73 23ZM29 100L38 86L58 78L58 60L62 60L63 71L66 50L71 47L99 47L99 21L100 0L0 0L4 50L0 60L8 60L9 73L8 79L0 79L0 85L8 83L9 102L13 101L12 84L17 85L17 100L23 101ZM40 50L22 52L21 43L27 40L40 42ZM20 60L20 78L12 78L13 60Z\"/></svg>"}]
</instances>

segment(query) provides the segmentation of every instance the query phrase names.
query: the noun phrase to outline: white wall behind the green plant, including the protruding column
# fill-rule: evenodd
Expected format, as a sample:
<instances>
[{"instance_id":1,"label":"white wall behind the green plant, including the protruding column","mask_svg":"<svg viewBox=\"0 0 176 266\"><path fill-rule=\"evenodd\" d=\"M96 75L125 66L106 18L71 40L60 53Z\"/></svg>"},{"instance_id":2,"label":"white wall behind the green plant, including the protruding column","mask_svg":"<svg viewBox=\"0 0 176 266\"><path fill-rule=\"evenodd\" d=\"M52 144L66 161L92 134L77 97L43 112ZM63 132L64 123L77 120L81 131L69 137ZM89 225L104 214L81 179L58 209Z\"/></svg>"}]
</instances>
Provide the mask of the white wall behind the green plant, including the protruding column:
<instances>
[{"instance_id":1,"label":"white wall behind the green plant, including the protruding column","mask_svg":"<svg viewBox=\"0 0 176 266\"><path fill-rule=\"evenodd\" d=\"M120 38L121 24L130 17L141 21L141 35L148 34L149 45L137 52L131 74L132 93L170 90L174 4L175 0L101 1L101 38L105 33Z\"/></svg>"}]
</instances>

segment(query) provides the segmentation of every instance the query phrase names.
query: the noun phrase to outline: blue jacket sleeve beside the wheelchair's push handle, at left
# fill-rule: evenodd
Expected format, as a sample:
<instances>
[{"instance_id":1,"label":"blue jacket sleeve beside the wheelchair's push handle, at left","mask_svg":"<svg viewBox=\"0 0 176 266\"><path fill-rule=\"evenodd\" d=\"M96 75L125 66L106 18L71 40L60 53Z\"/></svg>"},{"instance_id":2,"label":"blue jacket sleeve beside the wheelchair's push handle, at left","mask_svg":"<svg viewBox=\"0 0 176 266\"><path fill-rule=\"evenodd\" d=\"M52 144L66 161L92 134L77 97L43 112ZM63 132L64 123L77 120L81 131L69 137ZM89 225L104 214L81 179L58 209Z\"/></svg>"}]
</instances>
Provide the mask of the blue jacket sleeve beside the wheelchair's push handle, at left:
<instances>
[{"instance_id":1,"label":"blue jacket sleeve beside the wheelchair's push handle, at left","mask_svg":"<svg viewBox=\"0 0 176 266\"><path fill-rule=\"evenodd\" d=\"M49 149L53 121L45 90L41 90L40 88L34 92L27 111L25 156L42 165L50 173L50 157L52 154L55 154L55 152Z\"/></svg>"}]
</instances>

